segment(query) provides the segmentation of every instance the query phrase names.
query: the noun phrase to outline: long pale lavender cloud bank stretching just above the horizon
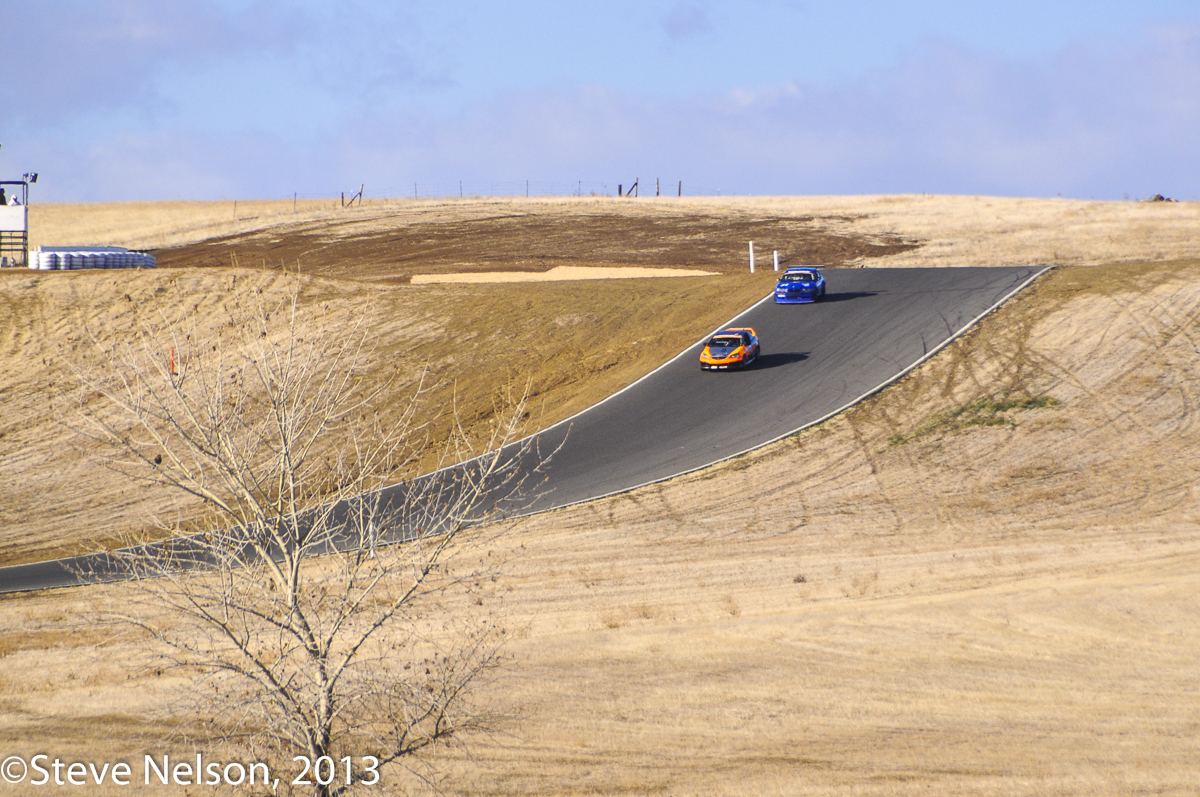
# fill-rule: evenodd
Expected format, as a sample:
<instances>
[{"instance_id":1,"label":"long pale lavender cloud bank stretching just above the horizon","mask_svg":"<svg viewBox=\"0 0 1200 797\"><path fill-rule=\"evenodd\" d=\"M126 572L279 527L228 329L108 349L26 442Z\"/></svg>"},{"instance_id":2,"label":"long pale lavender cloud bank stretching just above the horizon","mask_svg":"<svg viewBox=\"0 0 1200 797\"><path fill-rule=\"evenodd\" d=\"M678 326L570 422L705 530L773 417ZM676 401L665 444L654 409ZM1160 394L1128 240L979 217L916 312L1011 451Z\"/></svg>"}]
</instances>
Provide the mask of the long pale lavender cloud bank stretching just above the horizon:
<instances>
[{"instance_id":1,"label":"long pale lavender cloud bank stretching just above the horizon","mask_svg":"<svg viewBox=\"0 0 1200 797\"><path fill-rule=\"evenodd\" d=\"M376 196L403 196L414 181L637 175L731 193L1198 198L1198 130L1200 24L1181 23L1036 62L930 42L892 68L834 84L686 98L569 88L452 116L366 108L305 144L269 132L125 132L44 144L54 168L32 166L59 199L336 193L364 180ZM110 163L134 175L120 197L96 187Z\"/></svg>"}]
</instances>

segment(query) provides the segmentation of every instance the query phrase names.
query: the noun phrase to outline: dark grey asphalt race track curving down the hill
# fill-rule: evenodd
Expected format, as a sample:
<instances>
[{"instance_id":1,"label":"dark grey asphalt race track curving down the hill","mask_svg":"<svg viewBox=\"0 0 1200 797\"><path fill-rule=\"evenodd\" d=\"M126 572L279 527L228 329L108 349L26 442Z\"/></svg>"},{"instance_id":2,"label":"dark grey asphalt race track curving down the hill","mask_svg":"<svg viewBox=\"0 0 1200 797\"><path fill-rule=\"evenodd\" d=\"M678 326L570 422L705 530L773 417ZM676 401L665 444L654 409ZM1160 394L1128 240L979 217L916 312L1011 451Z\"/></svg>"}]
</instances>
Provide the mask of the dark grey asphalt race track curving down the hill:
<instances>
[{"instance_id":1,"label":"dark grey asphalt race track curving down the hill","mask_svg":"<svg viewBox=\"0 0 1200 797\"><path fill-rule=\"evenodd\" d=\"M541 466L546 480L532 504L510 509L544 511L631 490L794 432L896 378L1044 270L827 270L821 301L768 298L728 324L758 332L762 354L750 368L702 372L697 342L541 432L540 449L558 449ZM76 585L80 564L103 570L95 557L0 568L0 593Z\"/></svg>"}]
</instances>

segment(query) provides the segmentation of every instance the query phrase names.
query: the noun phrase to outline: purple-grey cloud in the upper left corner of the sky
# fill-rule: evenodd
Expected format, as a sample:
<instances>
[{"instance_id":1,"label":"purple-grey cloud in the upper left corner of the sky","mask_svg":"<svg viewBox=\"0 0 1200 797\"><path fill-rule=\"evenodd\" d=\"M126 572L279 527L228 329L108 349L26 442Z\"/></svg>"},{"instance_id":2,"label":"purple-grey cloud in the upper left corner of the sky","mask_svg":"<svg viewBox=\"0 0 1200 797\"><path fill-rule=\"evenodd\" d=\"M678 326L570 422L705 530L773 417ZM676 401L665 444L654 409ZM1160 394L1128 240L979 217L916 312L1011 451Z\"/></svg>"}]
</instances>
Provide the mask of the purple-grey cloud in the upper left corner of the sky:
<instances>
[{"instance_id":1,"label":"purple-grey cloud in the upper left corner of the sky","mask_svg":"<svg viewBox=\"0 0 1200 797\"><path fill-rule=\"evenodd\" d=\"M0 133L53 130L101 116L101 126L151 116L173 124L188 106L188 79L233 76L230 97L277 102L314 94L342 104L370 102L444 77L412 58L416 19L400 4L340 0L0 0L5 41ZM264 84L288 73L290 85ZM180 96L180 95L184 96ZM214 94L211 90L209 94ZM220 106L211 113L221 113ZM127 119L118 121L125 115ZM193 115L196 115L193 113ZM199 132L199 131L198 131Z\"/></svg>"}]
</instances>

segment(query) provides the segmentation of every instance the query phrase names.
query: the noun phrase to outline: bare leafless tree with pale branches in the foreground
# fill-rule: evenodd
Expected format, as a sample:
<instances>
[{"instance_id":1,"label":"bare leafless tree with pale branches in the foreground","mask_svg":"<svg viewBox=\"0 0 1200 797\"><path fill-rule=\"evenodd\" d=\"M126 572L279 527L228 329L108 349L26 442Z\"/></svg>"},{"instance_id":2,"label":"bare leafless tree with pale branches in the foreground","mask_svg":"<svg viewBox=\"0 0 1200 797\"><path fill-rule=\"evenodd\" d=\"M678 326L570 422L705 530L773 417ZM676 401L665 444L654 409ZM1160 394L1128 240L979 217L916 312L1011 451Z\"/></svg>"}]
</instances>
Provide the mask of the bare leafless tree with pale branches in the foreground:
<instances>
[{"instance_id":1,"label":"bare leafless tree with pale branches in the foreground","mask_svg":"<svg viewBox=\"0 0 1200 797\"><path fill-rule=\"evenodd\" d=\"M206 510L203 533L113 556L145 609L121 613L198 673L210 739L294 774L306 757L304 791L422 772L422 751L487 720L473 687L504 631L448 606L470 606L462 593L486 576L484 523L532 499L540 461L512 444L524 400L484 441L456 427L444 467L388 487L433 444L420 382L396 412L395 380L366 378L380 367L361 322L295 294L250 290L227 311L210 329L162 313L80 370L83 429L114 447L109 466Z\"/></svg>"}]
</instances>

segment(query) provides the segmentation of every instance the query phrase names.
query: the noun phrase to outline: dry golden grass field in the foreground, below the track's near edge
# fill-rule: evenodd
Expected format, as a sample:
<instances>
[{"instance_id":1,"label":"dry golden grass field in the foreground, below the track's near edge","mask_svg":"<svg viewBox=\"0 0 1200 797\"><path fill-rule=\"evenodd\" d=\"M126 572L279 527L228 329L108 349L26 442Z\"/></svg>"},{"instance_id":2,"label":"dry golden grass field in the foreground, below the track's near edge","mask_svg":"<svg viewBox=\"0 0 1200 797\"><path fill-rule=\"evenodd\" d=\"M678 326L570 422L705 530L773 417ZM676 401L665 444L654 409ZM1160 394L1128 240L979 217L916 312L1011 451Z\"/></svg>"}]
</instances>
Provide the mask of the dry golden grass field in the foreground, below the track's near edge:
<instances>
[{"instance_id":1,"label":"dry golden grass field in the foreground, below the track's near edge","mask_svg":"<svg viewBox=\"0 0 1200 797\"><path fill-rule=\"evenodd\" d=\"M821 427L515 523L512 719L444 785L1195 793L1198 340L1200 263L1062 269ZM124 589L0 601L10 749L157 749L178 683L83 619Z\"/></svg>"}]
</instances>

